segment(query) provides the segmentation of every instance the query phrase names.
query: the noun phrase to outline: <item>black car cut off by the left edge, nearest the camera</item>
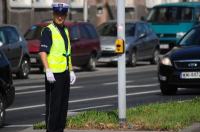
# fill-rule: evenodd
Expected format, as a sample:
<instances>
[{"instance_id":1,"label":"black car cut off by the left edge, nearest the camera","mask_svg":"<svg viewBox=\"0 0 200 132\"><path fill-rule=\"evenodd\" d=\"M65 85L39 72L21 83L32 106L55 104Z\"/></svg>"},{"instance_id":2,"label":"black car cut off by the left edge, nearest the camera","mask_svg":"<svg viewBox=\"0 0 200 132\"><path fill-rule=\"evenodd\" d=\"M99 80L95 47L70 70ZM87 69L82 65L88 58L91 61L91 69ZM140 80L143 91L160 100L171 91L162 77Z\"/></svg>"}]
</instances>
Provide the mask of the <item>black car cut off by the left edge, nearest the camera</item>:
<instances>
[{"instance_id":1,"label":"black car cut off by the left edge, nearest the camera","mask_svg":"<svg viewBox=\"0 0 200 132\"><path fill-rule=\"evenodd\" d=\"M1 42L0 45L2 45ZM13 86L10 63L1 50L0 73L0 127L2 127L5 120L5 109L14 101L15 88Z\"/></svg>"}]
</instances>

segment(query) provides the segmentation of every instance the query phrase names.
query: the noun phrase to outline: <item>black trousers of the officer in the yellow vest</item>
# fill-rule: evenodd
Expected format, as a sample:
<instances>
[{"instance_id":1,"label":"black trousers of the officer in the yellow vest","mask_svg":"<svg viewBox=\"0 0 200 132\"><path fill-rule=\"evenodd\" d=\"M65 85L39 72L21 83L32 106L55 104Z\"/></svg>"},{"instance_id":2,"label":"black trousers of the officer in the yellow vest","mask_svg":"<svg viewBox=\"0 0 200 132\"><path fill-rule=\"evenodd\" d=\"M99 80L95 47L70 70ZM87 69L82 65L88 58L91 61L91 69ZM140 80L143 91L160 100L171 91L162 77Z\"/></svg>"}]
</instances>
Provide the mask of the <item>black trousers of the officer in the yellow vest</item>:
<instances>
[{"instance_id":1,"label":"black trousers of the officer in the yellow vest","mask_svg":"<svg viewBox=\"0 0 200 132\"><path fill-rule=\"evenodd\" d=\"M54 83L49 83L45 77L46 129L47 132L63 132L70 92L69 71L54 73L54 77Z\"/></svg>"}]
</instances>

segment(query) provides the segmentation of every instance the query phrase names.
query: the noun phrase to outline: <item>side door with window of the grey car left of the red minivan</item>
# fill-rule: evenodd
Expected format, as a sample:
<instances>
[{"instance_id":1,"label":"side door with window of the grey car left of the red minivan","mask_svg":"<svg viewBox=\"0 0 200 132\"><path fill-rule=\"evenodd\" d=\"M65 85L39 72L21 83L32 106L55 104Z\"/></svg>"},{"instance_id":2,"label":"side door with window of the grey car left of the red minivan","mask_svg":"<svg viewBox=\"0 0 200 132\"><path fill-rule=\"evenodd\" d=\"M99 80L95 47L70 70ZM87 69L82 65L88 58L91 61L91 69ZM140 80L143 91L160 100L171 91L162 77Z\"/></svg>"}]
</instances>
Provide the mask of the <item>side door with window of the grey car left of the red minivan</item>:
<instances>
[{"instance_id":1,"label":"side door with window of the grey car left of the red minivan","mask_svg":"<svg viewBox=\"0 0 200 132\"><path fill-rule=\"evenodd\" d=\"M4 27L3 32L7 40L4 49L5 54L11 63L12 70L14 70L19 66L22 56L22 45L20 44L20 36L17 32L17 29L12 26Z\"/></svg>"}]
</instances>

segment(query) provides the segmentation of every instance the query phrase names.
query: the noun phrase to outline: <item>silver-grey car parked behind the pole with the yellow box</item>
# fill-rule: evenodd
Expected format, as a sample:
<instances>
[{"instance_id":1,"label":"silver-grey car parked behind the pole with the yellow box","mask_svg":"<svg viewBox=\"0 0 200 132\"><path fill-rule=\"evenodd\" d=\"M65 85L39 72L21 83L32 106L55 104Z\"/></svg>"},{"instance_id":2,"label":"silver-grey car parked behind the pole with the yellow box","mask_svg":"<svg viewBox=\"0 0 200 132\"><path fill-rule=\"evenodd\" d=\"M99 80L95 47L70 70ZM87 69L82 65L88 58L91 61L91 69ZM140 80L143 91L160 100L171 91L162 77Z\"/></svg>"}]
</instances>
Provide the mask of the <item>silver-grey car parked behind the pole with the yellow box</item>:
<instances>
[{"instance_id":1,"label":"silver-grey car parked behind the pole with the yellow box","mask_svg":"<svg viewBox=\"0 0 200 132\"><path fill-rule=\"evenodd\" d=\"M117 61L115 40L117 38L116 21L106 22L97 28L101 36L101 58L99 62ZM159 39L146 22L126 21L125 23L126 61L135 66L139 60L156 64L159 56Z\"/></svg>"}]
</instances>

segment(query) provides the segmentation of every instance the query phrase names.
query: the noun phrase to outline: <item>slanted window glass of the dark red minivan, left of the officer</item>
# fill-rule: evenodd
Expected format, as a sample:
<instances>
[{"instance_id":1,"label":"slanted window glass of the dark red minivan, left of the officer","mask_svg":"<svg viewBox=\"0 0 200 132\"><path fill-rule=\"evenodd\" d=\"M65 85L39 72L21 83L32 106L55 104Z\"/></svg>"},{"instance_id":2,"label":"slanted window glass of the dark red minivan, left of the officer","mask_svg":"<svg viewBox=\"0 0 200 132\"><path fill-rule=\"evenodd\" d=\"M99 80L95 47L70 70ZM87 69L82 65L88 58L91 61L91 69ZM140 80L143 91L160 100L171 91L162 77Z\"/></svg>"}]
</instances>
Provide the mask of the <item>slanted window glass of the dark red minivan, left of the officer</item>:
<instances>
[{"instance_id":1,"label":"slanted window glass of the dark red minivan, left of the officer","mask_svg":"<svg viewBox=\"0 0 200 132\"><path fill-rule=\"evenodd\" d=\"M31 40L31 39L40 39L41 36L41 31L43 27L42 26L32 26L31 29L29 29L24 37L26 40Z\"/></svg>"}]
</instances>

